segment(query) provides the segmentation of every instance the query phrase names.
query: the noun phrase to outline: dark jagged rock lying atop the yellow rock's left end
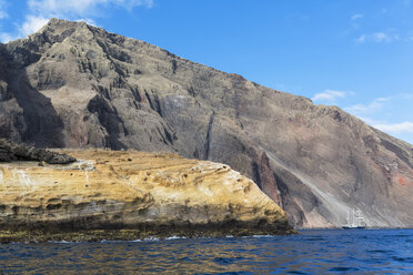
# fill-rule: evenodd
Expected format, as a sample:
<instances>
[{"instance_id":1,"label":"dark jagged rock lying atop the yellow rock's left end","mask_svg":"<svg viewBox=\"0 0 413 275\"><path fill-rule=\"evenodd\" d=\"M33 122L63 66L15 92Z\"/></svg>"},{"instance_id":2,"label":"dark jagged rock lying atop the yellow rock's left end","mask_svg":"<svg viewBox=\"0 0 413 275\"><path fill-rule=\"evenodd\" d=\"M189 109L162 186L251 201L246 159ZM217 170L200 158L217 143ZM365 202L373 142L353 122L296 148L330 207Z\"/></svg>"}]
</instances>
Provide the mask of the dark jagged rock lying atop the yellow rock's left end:
<instances>
[{"instance_id":1,"label":"dark jagged rock lying atop the yellow rock's left end","mask_svg":"<svg viewBox=\"0 0 413 275\"><path fill-rule=\"evenodd\" d=\"M26 144L16 144L0 139L0 162L12 161L38 161L49 164L68 164L75 162L75 159L67 154L59 154Z\"/></svg>"}]
</instances>

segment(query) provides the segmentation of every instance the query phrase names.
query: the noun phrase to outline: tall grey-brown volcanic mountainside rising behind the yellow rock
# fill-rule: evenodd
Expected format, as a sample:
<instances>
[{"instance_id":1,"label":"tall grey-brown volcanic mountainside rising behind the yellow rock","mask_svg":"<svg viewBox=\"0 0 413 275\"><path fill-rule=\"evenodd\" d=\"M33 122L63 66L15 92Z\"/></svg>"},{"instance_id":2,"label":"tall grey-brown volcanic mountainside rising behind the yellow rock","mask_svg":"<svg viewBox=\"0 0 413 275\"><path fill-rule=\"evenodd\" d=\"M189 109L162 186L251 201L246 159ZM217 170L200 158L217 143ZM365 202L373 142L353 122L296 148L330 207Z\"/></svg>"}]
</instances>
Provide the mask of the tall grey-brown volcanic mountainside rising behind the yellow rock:
<instances>
[{"instance_id":1,"label":"tall grey-brown volcanic mountainside rising behind the yellow rock","mask_svg":"<svg viewBox=\"0 0 413 275\"><path fill-rule=\"evenodd\" d=\"M413 226L413 147L335 106L83 22L0 44L0 135L178 152L253 179L298 226Z\"/></svg>"}]
</instances>

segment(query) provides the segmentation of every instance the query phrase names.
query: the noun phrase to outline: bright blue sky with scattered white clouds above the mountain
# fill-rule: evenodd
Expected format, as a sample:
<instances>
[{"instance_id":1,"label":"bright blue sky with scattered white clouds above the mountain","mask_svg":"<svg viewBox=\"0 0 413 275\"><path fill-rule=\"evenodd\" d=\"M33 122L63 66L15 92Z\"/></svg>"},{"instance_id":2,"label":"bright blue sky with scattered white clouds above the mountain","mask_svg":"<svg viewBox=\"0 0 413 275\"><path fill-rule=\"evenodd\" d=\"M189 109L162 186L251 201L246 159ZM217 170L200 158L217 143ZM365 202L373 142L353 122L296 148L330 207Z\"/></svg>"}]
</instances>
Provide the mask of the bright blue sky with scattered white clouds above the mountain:
<instances>
[{"instance_id":1,"label":"bright blue sky with scattered white clouds above the mountain","mask_svg":"<svg viewBox=\"0 0 413 275\"><path fill-rule=\"evenodd\" d=\"M413 0L0 0L0 41L83 20L413 144Z\"/></svg>"}]
</instances>

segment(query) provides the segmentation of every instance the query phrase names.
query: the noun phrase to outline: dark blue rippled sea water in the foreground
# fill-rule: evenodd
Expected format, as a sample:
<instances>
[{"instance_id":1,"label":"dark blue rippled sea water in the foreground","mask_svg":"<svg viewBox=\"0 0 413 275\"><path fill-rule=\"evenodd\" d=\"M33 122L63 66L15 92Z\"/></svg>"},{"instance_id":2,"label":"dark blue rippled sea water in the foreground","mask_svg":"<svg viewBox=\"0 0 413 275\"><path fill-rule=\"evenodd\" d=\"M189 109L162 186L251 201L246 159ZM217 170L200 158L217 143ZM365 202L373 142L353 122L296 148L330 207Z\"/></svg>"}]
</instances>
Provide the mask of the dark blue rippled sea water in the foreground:
<instances>
[{"instance_id":1,"label":"dark blue rippled sea water in the foreground","mask_svg":"<svg viewBox=\"0 0 413 275\"><path fill-rule=\"evenodd\" d=\"M413 274L413 230L0 245L0 274Z\"/></svg>"}]
</instances>

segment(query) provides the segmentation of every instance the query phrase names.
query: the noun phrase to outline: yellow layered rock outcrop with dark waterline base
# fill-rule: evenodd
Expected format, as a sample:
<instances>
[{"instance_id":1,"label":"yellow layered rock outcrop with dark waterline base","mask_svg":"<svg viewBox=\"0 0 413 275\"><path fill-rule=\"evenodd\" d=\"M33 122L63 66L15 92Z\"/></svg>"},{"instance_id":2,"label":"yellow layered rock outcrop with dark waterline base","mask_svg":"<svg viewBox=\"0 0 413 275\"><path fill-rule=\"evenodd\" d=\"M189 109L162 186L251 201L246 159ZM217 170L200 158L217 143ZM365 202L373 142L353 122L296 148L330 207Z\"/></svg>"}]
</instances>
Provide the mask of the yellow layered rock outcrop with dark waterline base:
<instances>
[{"instance_id":1,"label":"yellow layered rock outcrop with dark waterline base","mask_svg":"<svg viewBox=\"0 0 413 275\"><path fill-rule=\"evenodd\" d=\"M105 240L294 232L254 182L225 164L171 153L67 153L78 161L0 164L0 242L22 231L42 241L81 232Z\"/></svg>"}]
</instances>

